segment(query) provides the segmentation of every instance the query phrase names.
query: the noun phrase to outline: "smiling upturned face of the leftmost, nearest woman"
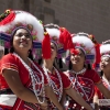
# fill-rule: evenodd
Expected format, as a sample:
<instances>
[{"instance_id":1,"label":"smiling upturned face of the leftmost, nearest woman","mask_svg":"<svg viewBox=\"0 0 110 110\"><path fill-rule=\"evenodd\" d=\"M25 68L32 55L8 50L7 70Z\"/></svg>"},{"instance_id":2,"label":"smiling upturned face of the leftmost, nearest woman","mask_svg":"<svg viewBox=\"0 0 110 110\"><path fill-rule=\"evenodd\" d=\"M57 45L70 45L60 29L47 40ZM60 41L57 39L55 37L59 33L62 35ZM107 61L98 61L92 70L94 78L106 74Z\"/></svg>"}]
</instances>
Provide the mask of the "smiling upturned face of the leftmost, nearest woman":
<instances>
[{"instance_id":1,"label":"smiling upturned face of the leftmost, nearest woman","mask_svg":"<svg viewBox=\"0 0 110 110\"><path fill-rule=\"evenodd\" d=\"M32 36L25 29L16 30L13 36L13 47L14 51L29 51L32 48Z\"/></svg>"}]
</instances>

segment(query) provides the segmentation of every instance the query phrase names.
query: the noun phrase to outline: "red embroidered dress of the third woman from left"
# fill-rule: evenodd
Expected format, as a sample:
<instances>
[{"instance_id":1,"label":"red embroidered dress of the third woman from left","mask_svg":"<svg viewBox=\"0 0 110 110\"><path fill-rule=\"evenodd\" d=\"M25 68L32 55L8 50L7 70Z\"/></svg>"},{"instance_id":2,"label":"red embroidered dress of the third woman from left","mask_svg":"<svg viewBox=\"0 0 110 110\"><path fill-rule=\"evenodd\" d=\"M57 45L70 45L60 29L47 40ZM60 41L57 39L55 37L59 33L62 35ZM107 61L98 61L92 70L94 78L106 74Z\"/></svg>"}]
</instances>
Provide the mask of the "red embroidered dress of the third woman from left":
<instances>
[{"instance_id":1,"label":"red embroidered dress of the third woman from left","mask_svg":"<svg viewBox=\"0 0 110 110\"><path fill-rule=\"evenodd\" d=\"M74 89L79 92L81 97L90 105L92 102L92 97L95 94L95 84L99 84L101 81L99 75L92 69L87 69L84 74L79 74L76 76L74 76L70 72L66 74L73 81ZM67 107L67 110L86 110L70 97L68 97L68 100L69 105Z\"/></svg>"}]
</instances>

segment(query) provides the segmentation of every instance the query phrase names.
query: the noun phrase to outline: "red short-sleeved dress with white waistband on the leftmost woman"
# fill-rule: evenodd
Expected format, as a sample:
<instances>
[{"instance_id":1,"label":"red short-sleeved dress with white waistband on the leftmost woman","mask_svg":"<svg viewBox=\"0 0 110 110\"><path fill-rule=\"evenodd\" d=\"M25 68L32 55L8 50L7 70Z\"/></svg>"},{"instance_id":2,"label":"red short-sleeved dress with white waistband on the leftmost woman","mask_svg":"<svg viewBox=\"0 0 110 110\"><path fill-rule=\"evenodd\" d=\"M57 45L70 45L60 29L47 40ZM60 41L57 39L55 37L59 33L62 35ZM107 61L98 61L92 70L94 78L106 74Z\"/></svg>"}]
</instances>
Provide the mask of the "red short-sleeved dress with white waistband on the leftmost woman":
<instances>
[{"instance_id":1,"label":"red short-sleeved dress with white waistband on the leftmost woman","mask_svg":"<svg viewBox=\"0 0 110 110\"><path fill-rule=\"evenodd\" d=\"M37 67L37 69L35 68L35 66ZM31 69L33 70L37 84L35 85L35 87L37 88L36 90L41 90L42 89L42 75L43 74L43 69L34 63L31 63ZM4 110L37 110L37 105L33 105L33 103L29 103L25 102L21 99L19 99L10 89L10 87L8 86L3 75L2 75L2 70L3 69L12 69L19 73L20 78L22 84L31 89L32 89L32 79L30 76L29 70L25 68L25 66L22 64L22 62L20 61L20 58L18 58L14 54L8 54L6 56L3 56L3 58L1 59L1 64L0 64L0 110L4 109ZM45 75L44 76L44 84L47 85L47 80ZM40 82L40 84L38 84ZM16 85L18 87L18 85ZM2 108L2 109L1 109Z\"/></svg>"}]
</instances>

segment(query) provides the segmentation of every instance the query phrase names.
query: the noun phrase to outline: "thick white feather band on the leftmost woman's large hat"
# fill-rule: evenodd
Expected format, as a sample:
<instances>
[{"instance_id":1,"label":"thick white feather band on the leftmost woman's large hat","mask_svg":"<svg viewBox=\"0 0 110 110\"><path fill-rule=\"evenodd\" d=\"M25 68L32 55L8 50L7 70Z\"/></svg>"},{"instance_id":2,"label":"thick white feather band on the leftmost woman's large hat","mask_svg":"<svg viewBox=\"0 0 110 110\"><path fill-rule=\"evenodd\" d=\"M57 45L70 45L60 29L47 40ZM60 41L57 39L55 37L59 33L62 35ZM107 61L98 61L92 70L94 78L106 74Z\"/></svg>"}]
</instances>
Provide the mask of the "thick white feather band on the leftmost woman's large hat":
<instances>
[{"instance_id":1,"label":"thick white feather band on the leftmost woman's large hat","mask_svg":"<svg viewBox=\"0 0 110 110\"><path fill-rule=\"evenodd\" d=\"M36 36L38 41L43 40L44 37L43 25L40 23L40 21L34 15L25 11L19 11L19 10L13 10L12 12L15 13L14 20L10 21L9 23L4 25L0 25L0 32L11 34L11 32L16 28L18 24L22 24L19 26L32 25L33 30L31 34L33 35L33 37Z\"/></svg>"}]
</instances>

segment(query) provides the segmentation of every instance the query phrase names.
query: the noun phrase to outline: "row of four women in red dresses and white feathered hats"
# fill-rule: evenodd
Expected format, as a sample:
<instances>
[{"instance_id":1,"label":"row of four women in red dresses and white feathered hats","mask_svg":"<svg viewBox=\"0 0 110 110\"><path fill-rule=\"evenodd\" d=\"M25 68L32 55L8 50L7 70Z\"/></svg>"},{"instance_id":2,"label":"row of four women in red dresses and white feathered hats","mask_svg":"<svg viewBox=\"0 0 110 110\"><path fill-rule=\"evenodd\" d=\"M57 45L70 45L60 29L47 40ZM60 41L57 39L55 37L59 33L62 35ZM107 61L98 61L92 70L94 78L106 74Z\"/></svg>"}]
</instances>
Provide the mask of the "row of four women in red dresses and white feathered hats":
<instances>
[{"instance_id":1,"label":"row of four women in red dresses and white feathered hats","mask_svg":"<svg viewBox=\"0 0 110 110\"><path fill-rule=\"evenodd\" d=\"M0 15L0 110L109 110L99 99L110 99L109 40L22 10Z\"/></svg>"}]
</instances>

